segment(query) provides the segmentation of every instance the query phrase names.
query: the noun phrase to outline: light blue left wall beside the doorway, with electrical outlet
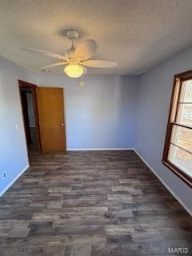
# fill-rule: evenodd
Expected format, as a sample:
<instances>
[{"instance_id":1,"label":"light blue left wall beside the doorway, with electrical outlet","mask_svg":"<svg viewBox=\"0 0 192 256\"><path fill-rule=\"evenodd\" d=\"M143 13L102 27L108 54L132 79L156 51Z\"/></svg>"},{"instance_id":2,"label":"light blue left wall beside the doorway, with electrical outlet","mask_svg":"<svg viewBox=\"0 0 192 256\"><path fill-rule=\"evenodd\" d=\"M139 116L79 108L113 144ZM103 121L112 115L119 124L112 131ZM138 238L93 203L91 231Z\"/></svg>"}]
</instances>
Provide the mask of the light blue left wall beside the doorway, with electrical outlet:
<instances>
[{"instance_id":1,"label":"light blue left wall beside the doorway, with electrical outlet","mask_svg":"<svg viewBox=\"0 0 192 256\"><path fill-rule=\"evenodd\" d=\"M18 91L18 79L27 80L27 74L0 57L0 194L28 165Z\"/></svg>"}]
</instances>

